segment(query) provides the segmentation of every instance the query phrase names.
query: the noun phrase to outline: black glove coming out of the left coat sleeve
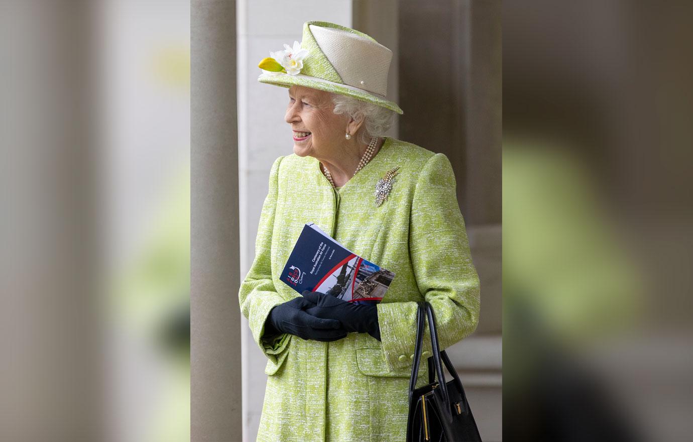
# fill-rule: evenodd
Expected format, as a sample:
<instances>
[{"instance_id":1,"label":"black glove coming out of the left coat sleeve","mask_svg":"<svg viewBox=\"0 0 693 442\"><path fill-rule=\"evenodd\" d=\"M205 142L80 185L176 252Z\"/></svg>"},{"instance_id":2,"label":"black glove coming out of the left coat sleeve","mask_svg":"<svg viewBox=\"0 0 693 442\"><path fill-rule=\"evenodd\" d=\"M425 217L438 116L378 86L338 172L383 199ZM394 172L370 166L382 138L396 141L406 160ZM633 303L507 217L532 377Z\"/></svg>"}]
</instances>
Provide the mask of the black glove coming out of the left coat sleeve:
<instances>
[{"instance_id":1,"label":"black glove coming out of the left coat sleeve","mask_svg":"<svg viewBox=\"0 0 693 442\"><path fill-rule=\"evenodd\" d=\"M312 316L305 311L309 307L315 307L315 304L302 297L272 307L265 321L263 336L289 333L302 339L322 342L347 337L347 330L344 330L340 321Z\"/></svg>"}]
</instances>

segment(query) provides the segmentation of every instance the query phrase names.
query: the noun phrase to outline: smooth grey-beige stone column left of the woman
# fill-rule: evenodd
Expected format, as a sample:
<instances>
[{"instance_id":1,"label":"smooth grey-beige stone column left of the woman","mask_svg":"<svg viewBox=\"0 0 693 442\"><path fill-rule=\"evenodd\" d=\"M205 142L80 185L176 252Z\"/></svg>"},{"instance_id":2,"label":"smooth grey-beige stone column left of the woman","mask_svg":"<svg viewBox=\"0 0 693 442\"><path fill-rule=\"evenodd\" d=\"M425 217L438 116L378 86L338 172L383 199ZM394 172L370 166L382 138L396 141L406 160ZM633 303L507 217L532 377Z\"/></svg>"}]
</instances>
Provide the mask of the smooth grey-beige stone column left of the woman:
<instances>
[{"instance_id":1,"label":"smooth grey-beige stone column left of the woman","mask_svg":"<svg viewBox=\"0 0 693 442\"><path fill-rule=\"evenodd\" d=\"M191 441L240 441L236 2L191 2Z\"/></svg>"}]
</instances>

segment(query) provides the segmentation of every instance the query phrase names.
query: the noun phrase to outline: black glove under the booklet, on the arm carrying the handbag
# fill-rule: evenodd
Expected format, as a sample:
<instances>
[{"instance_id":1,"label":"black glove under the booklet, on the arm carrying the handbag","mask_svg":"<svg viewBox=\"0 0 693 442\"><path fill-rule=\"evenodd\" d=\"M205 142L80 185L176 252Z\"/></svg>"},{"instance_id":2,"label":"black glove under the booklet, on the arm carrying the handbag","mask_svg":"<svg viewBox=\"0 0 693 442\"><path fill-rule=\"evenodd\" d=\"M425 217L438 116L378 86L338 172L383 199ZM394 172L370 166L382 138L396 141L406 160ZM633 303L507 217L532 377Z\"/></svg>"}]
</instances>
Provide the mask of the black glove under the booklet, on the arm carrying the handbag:
<instances>
[{"instance_id":1,"label":"black glove under the booklet, on the arm carrying the handbag","mask_svg":"<svg viewBox=\"0 0 693 442\"><path fill-rule=\"evenodd\" d=\"M324 319L338 319L344 329L349 332L368 333L380 341L380 324L378 324L378 308L355 304L319 292L306 290L304 299L314 303L306 312Z\"/></svg>"}]
</instances>

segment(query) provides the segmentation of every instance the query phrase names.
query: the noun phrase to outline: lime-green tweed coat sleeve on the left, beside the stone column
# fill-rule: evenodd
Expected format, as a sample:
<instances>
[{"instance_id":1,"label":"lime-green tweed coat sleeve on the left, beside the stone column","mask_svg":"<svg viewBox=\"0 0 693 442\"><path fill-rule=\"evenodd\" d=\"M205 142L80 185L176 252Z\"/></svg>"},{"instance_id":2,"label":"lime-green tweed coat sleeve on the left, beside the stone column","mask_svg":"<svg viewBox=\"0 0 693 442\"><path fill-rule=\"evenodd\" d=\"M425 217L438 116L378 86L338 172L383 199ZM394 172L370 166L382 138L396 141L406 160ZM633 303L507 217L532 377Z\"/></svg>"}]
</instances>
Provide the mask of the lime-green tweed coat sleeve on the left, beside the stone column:
<instances>
[{"instance_id":1,"label":"lime-green tweed coat sleeve on the left, beside the stone column","mask_svg":"<svg viewBox=\"0 0 693 442\"><path fill-rule=\"evenodd\" d=\"M279 364L280 358L286 357L285 349L290 341L290 335L286 333L274 339L263 337L267 315L272 307L284 302L272 282L272 231L279 193L279 163L282 158L277 158L272 165L270 190L263 203L255 240L255 259L238 291L240 310L248 319L253 339L274 364Z\"/></svg>"}]
</instances>

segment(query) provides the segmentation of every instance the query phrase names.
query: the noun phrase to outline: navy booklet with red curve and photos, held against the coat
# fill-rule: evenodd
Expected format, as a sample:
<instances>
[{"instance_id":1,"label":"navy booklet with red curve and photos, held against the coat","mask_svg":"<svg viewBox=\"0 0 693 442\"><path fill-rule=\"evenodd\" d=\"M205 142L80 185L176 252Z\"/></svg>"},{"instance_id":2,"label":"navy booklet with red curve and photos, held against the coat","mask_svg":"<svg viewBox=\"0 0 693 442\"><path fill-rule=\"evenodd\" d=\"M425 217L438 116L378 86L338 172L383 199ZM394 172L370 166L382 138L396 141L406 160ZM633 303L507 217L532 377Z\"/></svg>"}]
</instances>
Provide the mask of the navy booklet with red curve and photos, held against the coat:
<instances>
[{"instance_id":1,"label":"navy booklet with red curve and photos, held against the coat","mask_svg":"<svg viewBox=\"0 0 693 442\"><path fill-rule=\"evenodd\" d=\"M353 303L376 304L394 273L352 253L315 223L304 226L281 281L299 293L320 292Z\"/></svg>"}]
</instances>

